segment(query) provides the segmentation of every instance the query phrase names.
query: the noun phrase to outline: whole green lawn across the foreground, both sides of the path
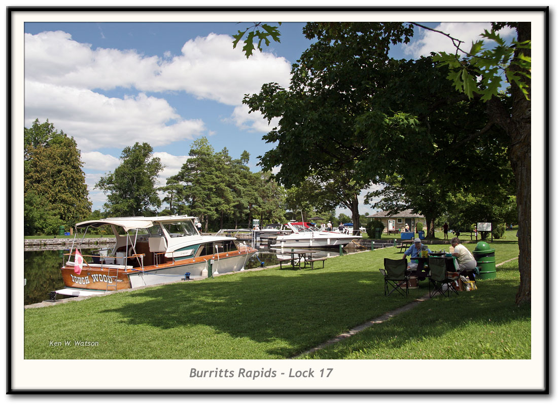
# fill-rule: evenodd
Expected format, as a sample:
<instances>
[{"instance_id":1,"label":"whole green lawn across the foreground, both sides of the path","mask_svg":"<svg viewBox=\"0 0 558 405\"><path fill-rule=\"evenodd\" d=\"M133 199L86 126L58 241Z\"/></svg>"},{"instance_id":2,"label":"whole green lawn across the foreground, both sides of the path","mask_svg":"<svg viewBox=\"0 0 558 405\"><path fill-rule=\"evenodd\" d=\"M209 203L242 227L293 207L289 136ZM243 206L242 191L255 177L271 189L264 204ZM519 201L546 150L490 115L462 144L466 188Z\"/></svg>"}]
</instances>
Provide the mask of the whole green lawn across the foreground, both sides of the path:
<instances>
[{"instance_id":1,"label":"whole green lawn across the foreground, both sides of the path","mask_svg":"<svg viewBox=\"0 0 558 405\"><path fill-rule=\"evenodd\" d=\"M496 248L497 262L517 257L517 243L495 241L491 246ZM26 309L25 358L294 357L427 294L422 282L423 287L410 290L407 297L384 297L378 271L384 257L401 257L401 253L386 248L329 258L325 269L240 272ZM368 346L360 346L361 341L354 349L331 347L315 356L350 358L352 353L383 347L365 354L370 356L366 358L408 358L405 352L413 341L426 341L432 358L526 358L529 309L513 305L517 285L517 261L512 261L498 271L497 280L479 281L477 291L423 302L364 331L359 339L368 336L364 339ZM512 345L507 334L521 336L521 344ZM496 336L503 340L499 345ZM98 346L75 346L76 340L98 342ZM52 346L51 341L62 346ZM70 344L65 346L65 341ZM421 344L416 350L424 347Z\"/></svg>"}]
</instances>

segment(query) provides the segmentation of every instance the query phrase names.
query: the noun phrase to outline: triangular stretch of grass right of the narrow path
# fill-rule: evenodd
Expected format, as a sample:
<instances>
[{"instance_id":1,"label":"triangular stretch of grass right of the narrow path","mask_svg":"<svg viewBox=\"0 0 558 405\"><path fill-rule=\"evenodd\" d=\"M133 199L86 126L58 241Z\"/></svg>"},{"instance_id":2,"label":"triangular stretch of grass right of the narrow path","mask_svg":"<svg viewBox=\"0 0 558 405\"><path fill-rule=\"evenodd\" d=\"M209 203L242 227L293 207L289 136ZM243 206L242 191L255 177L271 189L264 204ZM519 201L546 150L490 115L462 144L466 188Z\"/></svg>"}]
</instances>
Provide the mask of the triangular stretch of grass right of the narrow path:
<instances>
[{"instance_id":1,"label":"triangular stretch of grass right of the narrow path","mask_svg":"<svg viewBox=\"0 0 558 405\"><path fill-rule=\"evenodd\" d=\"M305 359L530 359L531 311L514 306L517 261L476 291L434 297ZM417 319L420 321L417 322Z\"/></svg>"}]
</instances>

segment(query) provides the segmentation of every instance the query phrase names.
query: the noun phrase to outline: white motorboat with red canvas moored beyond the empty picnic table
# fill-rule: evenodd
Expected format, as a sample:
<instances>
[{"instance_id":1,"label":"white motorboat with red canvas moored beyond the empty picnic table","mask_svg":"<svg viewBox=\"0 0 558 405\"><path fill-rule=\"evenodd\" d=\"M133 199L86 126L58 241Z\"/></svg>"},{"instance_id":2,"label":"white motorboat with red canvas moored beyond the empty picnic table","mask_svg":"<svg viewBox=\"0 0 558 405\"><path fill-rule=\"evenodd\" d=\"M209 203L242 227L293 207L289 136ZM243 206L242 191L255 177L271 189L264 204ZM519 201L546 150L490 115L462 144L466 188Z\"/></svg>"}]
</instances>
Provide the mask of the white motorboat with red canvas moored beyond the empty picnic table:
<instances>
[{"instance_id":1,"label":"white motorboat with red canvas moored beyond the empty picnic table","mask_svg":"<svg viewBox=\"0 0 558 405\"><path fill-rule=\"evenodd\" d=\"M347 235L346 233L321 231L316 227L296 225L292 222L285 224L292 233L277 236L272 247L338 247L345 246L362 236Z\"/></svg>"}]
</instances>

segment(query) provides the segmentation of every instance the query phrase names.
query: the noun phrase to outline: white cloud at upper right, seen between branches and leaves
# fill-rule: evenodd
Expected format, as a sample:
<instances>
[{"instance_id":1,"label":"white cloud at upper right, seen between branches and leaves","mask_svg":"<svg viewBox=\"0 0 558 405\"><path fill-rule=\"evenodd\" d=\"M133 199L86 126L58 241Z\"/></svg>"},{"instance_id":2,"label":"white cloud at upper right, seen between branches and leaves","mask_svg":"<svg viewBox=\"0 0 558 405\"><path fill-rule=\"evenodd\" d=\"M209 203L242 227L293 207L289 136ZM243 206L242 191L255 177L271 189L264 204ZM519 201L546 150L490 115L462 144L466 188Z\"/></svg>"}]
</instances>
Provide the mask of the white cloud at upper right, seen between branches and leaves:
<instances>
[{"instance_id":1,"label":"white cloud at upper right, seen between branches and leaves","mask_svg":"<svg viewBox=\"0 0 558 405\"><path fill-rule=\"evenodd\" d=\"M480 33L483 33L484 30L490 31L491 26L489 22L443 22L434 29L445 32L460 41L464 41L460 47L464 51L469 51L474 41L483 39L480 37ZM415 28L415 30L419 35L415 35L415 39L408 45L403 45L403 52L405 55L418 58L420 56L429 56L430 52L455 52L453 41L441 33L424 30L422 28ZM499 31L499 33L501 36L509 38L513 35L513 30L505 27ZM484 41L485 43L492 42L487 40Z\"/></svg>"}]
</instances>

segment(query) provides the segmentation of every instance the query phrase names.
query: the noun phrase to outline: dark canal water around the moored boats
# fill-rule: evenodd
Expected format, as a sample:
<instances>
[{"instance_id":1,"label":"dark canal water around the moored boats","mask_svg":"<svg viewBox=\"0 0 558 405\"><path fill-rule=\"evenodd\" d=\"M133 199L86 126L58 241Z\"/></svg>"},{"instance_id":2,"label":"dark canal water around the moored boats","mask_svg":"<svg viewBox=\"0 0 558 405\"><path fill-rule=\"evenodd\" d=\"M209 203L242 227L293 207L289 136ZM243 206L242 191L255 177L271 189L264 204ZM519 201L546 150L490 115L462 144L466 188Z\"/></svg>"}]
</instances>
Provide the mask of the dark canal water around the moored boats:
<instances>
[{"instance_id":1,"label":"dark canal water around the moored boats","mask_svg":"<svg viewBox=\"0 0 558 405\"><path fill-rule=\"evenodd\" d=\"M92 249L82 249L83 255L92 255L92 251L98 251L103 248L112 248L112 246L95 246ZM255 269L264 266L273 266L279 264L278 257L281 258L281 251L268 248L266 245L257 247L258 252L248 261L246 268ZM35 304L49 299L50 291L60 290L64 288L64 281L60 273L60 267L68 260L69 249L65 250L47 250L46 248L26 249L23 253L23 277L26 284L23 287L24 304ZM97 254L97 253L94 253ZM338 256L339 250L315 251L312 257L333 257ZM285 256L286 257L286 256ZM290 256L288 256L290 257ZM320 266L320 265L318 265Z\"/></svg>"}]
</instances>

